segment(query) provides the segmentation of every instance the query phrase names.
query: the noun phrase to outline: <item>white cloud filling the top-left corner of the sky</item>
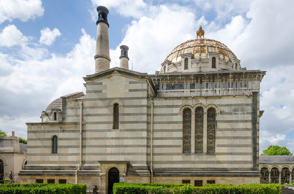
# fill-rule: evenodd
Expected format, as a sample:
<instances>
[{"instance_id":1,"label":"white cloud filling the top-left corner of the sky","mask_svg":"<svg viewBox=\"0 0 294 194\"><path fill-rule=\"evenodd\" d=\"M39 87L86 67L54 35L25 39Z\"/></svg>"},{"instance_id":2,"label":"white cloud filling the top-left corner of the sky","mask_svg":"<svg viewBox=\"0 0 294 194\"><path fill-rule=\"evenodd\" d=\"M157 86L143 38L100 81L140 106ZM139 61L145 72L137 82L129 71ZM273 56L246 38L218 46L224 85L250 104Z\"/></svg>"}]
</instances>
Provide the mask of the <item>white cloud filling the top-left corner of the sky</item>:
<instances>
[{"instance_id":1,"label":"white cloud filling the top-left corner of the sky","mask_svg":"<svg viewBox=\"0 0 294 194\"><path fill-rule=\"evenodd\" d=\"M1 0L0 10L0 23L16 18L21 21L34 20L44 14L41 0Z\"/></svg>"}]
</instances>

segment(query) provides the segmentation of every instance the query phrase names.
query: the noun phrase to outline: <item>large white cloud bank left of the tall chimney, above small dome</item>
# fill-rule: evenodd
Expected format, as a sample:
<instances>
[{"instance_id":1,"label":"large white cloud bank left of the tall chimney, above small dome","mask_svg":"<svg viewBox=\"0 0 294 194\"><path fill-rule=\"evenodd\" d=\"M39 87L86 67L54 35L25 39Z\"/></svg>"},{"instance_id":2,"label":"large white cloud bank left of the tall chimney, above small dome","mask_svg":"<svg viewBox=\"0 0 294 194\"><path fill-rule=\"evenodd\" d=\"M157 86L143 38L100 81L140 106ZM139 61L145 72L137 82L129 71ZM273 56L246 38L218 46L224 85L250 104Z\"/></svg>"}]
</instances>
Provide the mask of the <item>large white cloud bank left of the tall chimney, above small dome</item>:
<instances>
[{"instance_id":1,"label":"large white cloud bank left of the tall chimney, above small dome","mask_svg":"<svg viewBox=\"0 0 294 194\"><path fill-rule=\"evenodd\" d=\"M85 92L82 77L95 72L95 40L84 30L82 32L80 42L66 55L51 54L48 59L38 60L35 56L24 60L11 59L10 66L7 67L10 72L0 76L0 117L23 120L27 115L34 115L39 118L41 111L54 99L69 93ZM33 53L33 50L42 48L30 49ZM25 52L22 49L18 51L22 54ZM35 52L35 55L39 55L39 52ZM19 109L22 111L15 111ZM1 125L2 121L0 120ZM0 128L18 130L15 127Z\"/></svg>"}]
</instances>

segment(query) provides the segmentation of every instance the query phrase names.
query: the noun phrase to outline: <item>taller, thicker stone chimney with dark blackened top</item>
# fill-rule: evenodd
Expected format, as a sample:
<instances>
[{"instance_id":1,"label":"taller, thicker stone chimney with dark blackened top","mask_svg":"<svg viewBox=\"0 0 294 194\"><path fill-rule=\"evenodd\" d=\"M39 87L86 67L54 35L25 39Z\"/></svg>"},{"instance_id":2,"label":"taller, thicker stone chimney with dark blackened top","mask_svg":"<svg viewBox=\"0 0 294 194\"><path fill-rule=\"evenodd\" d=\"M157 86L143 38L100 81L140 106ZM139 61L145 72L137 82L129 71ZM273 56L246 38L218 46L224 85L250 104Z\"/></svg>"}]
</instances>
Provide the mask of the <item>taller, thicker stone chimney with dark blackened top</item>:
<instances>
[{"instance_id":1,"label":"taller, thicker stone chimney with dark blackened top","mask_svg":"<svg viewBox=\"0 0 294 194\"><path fill-rule=\"evenodd\" d=\"M108 40L108 27L107 14L108 9L104 6L97 7L98 20L97 36L96 36L96 53L95 59L95 74L109 69L109 40Z\"/></svg>"}]
</instances>

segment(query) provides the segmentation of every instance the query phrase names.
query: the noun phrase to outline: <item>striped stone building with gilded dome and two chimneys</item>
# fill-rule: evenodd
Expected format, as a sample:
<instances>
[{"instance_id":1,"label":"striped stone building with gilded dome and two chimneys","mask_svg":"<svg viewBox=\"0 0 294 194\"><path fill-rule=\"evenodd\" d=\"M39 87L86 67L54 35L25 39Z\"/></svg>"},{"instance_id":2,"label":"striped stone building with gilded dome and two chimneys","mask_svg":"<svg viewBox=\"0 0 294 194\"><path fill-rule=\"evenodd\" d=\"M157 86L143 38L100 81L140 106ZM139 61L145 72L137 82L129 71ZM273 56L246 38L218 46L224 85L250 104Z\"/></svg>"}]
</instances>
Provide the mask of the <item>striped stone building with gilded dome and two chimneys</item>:
<instances>
[{"instance_id":1,"label":"striped stone building with gilded dome and two chimneys","mask_svg":"<svg viewBox=\"0 0 294 194\"><path fill-rule=\"evenodd\" d=\"M114 182L260 182L259 87L265 71L241 68L223 43L175 47L153 75L109 68L107 8L97 7L95 73L86 94L53 101L28 125L22 182L75 182L111 193ZM115 60L115 59L113 59Z\"/></svg>"}]
</instances>

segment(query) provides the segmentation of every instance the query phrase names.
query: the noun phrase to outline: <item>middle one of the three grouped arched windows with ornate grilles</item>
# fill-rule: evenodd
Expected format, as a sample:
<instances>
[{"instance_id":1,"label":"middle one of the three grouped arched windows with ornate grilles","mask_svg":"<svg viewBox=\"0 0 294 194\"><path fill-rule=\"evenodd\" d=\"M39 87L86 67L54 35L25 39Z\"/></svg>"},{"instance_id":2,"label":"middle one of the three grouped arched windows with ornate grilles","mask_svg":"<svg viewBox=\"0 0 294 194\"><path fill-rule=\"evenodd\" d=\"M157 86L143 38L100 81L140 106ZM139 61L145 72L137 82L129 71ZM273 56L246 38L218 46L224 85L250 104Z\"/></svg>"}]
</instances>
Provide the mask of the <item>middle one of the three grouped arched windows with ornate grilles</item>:
<instances>
[{"instance_id":1,"label":"middle one of the three grouped arched windows with ornate grilles","mask_svg":"<svg viewBox=\"0 0 294 194\"><path fill-rule=\"evenodd\" d=\"M203 109L195 110L195 153L203 153Z\"/></svg>"}]
</instances>

